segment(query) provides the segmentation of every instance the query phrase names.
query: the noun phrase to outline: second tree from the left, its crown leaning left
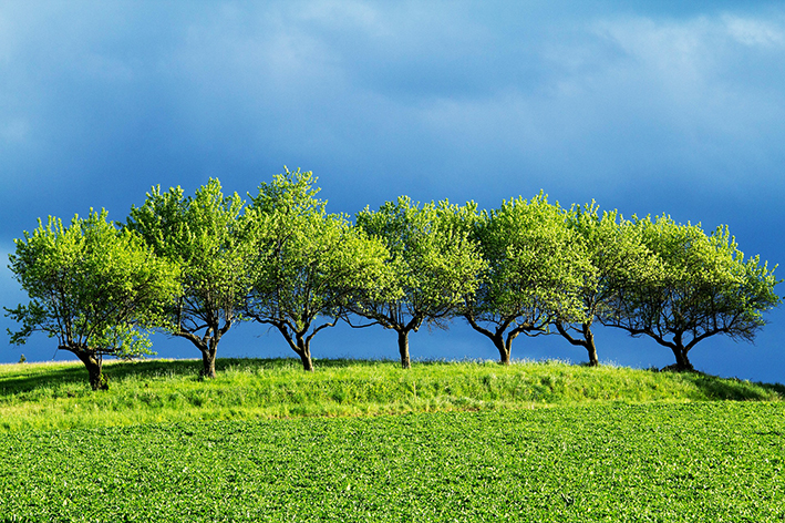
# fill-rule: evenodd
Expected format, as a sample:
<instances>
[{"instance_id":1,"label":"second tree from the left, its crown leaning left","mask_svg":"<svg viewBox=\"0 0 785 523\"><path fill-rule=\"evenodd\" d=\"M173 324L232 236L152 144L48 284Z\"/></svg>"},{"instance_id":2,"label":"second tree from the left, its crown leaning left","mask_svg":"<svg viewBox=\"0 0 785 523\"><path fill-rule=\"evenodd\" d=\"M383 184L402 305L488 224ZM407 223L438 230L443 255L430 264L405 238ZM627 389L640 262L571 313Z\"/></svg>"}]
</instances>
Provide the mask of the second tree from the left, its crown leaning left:
<instances>
[{"instance_id":1,"label":"second tree from the left, its crown leaning left","mask_svg":"<svg viewBox=\"0 0 785 523\"><path fill-rule=\"evenodd\" d=\"M210 178L193 197L173 187L153 187L142 207L133 207L126 227L180 267L182 293L168 309L167 329L202 352L204 378L214 378L218 342L240 319L248 289L250 246L244 236L244 202L225 197Z\"/></svg>"}]
</instances>

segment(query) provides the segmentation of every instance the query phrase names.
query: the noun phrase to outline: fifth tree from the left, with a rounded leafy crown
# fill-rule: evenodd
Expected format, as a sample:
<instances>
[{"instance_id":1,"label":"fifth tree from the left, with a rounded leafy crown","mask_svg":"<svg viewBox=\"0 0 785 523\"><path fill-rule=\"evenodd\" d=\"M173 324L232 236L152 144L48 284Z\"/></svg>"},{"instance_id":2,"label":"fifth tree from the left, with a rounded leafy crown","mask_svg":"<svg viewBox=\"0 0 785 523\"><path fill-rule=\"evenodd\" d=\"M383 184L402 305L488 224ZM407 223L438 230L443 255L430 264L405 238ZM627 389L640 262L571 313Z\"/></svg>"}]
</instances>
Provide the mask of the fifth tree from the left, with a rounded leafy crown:
<instances>
[{"instance_id":1,"label":"fifth tree from the left, with a rounded leafy crown","mask_svg":"<svg viewBox=\"0 0 785 523\"><path fill-rule=\"evenodd\" d=\"M509 365L518 335L538 336L554 318L580 320L580 288L592 277L582 244L564 209L541 193L505 201L484 212L474 227L487 263L482 285L466 300L464 317L489 338Z\"/></svg>"}]
</instances>

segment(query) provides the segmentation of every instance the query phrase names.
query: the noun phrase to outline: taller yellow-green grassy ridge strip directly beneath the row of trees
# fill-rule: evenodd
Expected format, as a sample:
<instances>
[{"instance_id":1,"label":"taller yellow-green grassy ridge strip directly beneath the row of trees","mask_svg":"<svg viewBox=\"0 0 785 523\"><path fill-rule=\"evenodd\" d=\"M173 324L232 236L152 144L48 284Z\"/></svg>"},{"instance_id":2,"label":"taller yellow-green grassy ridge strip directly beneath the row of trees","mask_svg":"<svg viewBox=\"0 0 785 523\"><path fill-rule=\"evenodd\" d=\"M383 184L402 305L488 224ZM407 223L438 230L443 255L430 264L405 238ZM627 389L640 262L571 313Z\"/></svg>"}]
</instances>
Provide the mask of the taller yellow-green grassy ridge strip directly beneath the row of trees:
<instances>
[{"instance_id":1,"label":"taller yellow-green grassy ridge strip directly beneath the row of trees","mask_svg":"<svg viewBox=\"0 0 785 523\"><path fill-rule=\"evenodd\" d=\"M781 401L785 387L699 373L588 368L560 362L221 359L199 381L198 361L106 365L111 390L93 392L80 363L0 366L0 431L199 420L256 420L530 408L597 401Z\"/></svg>"}]
</instances>

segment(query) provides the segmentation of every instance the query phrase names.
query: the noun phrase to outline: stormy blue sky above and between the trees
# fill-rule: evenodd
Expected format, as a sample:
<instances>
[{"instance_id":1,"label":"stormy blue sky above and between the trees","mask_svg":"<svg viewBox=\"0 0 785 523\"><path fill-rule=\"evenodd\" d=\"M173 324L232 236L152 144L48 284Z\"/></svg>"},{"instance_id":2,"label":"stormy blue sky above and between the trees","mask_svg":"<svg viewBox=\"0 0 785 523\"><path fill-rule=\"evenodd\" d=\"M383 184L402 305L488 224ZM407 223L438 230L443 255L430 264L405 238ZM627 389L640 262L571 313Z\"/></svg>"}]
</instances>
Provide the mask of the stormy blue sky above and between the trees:
<instances>
[{"instance_id":1,"label":"stormy blue sky above and between the trees","mask_svg":"<svg viewBox=\"0 0 785 523\"><path fill-rule=\"evenodd\" d=\"M312 171L333 213L404 194L494 208L541 189L562 206L729 225L774 266L785 263L784 122L778 1L9 0L0 256L39 217L103 207L124 221L152 186L193 194L209 177L245 196L286 165ZM6 264L0 305L14 307L27 296ZM754 345L710 338L693 363L785 382L785 308L766 319ZM73 359L43 335L18 347L2 332L0 362ZM153 340L161 357L199 356ZM620 331L599 328L597 341L601 362L673 362ZM458 321L410 343L415 360L497 357ZM395 336L338 327L312 351L394 359ZM295 355L242 324L221 356ZM586 359L558 337L520 337L513 357Z\"/></svg>"}]
</instances>

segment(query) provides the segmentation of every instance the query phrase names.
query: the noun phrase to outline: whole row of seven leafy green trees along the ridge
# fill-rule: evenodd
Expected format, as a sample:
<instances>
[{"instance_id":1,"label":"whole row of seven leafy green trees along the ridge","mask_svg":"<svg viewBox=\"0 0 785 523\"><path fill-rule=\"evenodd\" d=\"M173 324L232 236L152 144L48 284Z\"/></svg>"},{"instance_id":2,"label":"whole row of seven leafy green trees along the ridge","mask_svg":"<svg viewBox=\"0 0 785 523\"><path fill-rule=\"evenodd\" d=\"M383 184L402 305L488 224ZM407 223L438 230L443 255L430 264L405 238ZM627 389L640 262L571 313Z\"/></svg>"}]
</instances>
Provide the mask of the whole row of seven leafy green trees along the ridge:
<instances>
[{"instance_id":1,"label":"whole row of seven leafy green trees along the ridge","mask_svg":"<svg viewBox=\"0 0 785 523\"><path fill-rule=\"evenodd\" d=\"M123 224L91 209L16 243L10 268L30 301L7 315L11 340L43 331L76 355L94 389L104 356L149 352L148 335L189 340L215 376L234 324L275 327L312 370L311 341L345 320L409 335L464 318L509 363L520 334L558 334L598 365L592 325L649 336L675 367L714 335L752 340L781 302L766 263L745 258L727 227L705 234L669 216L623 219L595 203L569 209L539 194L479 211L402 196L354 224L328 214L310 172L276 175L246 205L210 180L194 196L154 187Z\"/></svg>"}]
</instances>

